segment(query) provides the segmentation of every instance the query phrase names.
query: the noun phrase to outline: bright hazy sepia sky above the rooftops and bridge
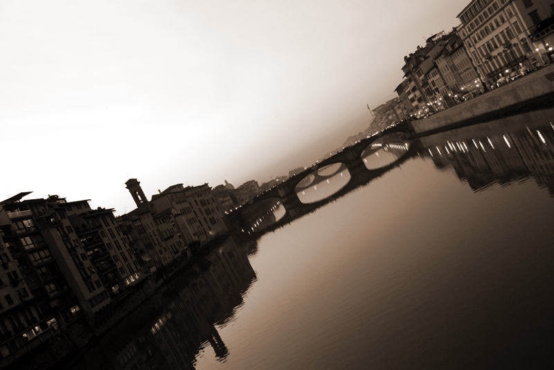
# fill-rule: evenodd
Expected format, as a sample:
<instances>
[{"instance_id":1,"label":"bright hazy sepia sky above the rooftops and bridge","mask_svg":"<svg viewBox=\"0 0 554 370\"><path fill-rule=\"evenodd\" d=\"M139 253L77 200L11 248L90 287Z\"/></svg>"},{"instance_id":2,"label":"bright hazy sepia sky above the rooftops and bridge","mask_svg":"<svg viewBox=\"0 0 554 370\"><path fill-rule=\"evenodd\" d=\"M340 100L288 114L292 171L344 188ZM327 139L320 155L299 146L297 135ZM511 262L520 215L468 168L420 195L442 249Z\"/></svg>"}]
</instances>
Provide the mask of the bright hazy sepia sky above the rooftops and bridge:
<instances>
[{"instance_id":1,"label":"bright hazy sepia sky above the rooftops and bridge","mask_svg":"<svg viewBox=\"0 0 554 370\"><path fill-rule=\"evenodd\" d=\"M0 0L0 200L134 207L310 165L470 1Z\"/></svg>"}]
</instances>

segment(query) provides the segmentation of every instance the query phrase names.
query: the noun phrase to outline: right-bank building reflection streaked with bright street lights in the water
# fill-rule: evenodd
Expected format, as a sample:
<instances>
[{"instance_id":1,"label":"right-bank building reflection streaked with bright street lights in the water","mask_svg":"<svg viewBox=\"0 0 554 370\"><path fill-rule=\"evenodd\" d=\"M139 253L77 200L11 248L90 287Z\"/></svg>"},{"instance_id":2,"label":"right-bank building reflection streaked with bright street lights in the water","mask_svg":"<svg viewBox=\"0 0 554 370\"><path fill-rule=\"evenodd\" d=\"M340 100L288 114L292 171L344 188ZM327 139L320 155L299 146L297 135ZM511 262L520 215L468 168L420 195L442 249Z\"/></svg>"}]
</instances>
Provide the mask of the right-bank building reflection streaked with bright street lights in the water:
<instances>
[{"instance_id":1,"label":"right-bank building reflection streaked with bright street lights in the water","mask_svg":"<svg viewBox=\"0 0 554 370\"><path fill-rule=\"evenodd\" d=\"M546 187L554 196L554 127L501 131L490 129L483 136L460 136L440 142L427 140L427 154L436 167L452 166L461 181L475 191L494 183L508 184L523 178L534 178L539 187Z\"/></svg>"}]
</instances>

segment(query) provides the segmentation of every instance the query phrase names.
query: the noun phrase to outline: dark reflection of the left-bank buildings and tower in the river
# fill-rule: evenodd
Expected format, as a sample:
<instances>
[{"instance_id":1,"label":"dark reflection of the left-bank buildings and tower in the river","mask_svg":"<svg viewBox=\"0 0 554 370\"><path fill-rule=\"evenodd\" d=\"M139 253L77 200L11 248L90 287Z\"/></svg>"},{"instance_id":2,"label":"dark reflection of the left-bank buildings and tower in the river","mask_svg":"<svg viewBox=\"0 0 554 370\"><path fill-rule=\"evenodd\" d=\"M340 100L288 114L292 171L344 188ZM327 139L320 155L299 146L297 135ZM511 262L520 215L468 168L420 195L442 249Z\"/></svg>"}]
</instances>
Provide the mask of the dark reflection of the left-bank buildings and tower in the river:
<instances>
[{"instance_id":1,"label":"dark reflection of the left-bank buildings and tower in the river","mask_svg":"<svg viewBox=\"0 0 554 370\"><path fill-rule=\"evenodd\" d=\"M216 325L233 319L256 278L244 246L230 237L203 261L120 322L75 369L194 369L206 345L229 355Z\"/></svg>"}]
</instances>

